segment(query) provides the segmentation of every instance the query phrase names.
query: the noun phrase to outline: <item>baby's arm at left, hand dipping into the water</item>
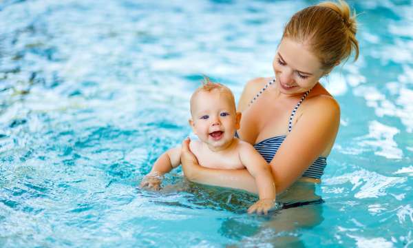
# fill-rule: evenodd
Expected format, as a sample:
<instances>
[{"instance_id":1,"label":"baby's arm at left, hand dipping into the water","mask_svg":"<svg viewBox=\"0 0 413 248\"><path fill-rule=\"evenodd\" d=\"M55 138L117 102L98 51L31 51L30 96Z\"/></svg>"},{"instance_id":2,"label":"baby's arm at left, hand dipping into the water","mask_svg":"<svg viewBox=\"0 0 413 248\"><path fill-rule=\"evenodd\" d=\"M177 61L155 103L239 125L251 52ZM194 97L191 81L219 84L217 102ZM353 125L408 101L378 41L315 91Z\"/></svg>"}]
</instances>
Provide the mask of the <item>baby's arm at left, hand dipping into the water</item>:
<instances>
[{"instance_id":1,"label":"baby's arm at left, hand dipping into the water","mask_svg":"<svg viewBox=\"0 0 413 248\"><path fill-rule=\"evenodd\" d=\"M162 176L180 165L180 151L181 147L179 146L162 154L153 164L151 172L142 179L140 187L159 190Z\"/></svg>"}]
</instances>

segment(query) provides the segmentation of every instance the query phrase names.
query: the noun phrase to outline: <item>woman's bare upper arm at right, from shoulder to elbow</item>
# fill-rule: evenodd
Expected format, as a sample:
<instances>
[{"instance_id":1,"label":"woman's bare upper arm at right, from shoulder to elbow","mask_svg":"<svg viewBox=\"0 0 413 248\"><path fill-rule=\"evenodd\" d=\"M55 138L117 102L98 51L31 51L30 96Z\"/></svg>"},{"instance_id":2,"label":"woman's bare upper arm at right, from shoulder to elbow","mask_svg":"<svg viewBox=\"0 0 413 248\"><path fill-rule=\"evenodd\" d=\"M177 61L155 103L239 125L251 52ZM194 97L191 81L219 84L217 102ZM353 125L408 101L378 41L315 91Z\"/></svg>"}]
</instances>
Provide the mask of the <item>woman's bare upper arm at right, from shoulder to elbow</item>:
<instances>
[{"instance_id":1,"label":"woman's bare upper arm at right, from shoulder to elbow","mask_svg":"<svg viewBox=\"0 0 413 248\"><path fill-rule=\"evenodd\" d=\"M270 163L279 192L299 179L335 141L339 123L340 108L335 99L330 96L308 99L305 111Z\"/></svg>"}]
</instances>

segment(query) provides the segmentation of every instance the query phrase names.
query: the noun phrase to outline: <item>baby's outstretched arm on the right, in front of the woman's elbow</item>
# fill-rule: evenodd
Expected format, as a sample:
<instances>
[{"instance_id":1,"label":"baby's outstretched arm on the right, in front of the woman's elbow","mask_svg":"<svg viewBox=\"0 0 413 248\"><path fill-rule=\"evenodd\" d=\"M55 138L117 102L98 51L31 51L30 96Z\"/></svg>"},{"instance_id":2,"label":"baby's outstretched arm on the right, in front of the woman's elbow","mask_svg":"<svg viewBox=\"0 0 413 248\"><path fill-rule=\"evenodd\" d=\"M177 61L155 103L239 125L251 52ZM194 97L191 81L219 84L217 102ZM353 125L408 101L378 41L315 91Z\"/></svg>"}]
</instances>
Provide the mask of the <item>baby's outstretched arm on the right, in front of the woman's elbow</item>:
<instances>
[{"instance_id":1,"label":"baby's outstretched arm on the right, in front of the woman's elbow","mask_svg":"<svg viewBox=\"0 0 413 248\"><path fill-rule=\"evenodd\" d=\"M267 214L268 209L271 209L275 204L275 183L270 166L249 143L240 144L240 148L240 160L255 178L260 196L260 200L248 209L248 213L257 211L257 214Z\"/></svg>"}]
</instances>

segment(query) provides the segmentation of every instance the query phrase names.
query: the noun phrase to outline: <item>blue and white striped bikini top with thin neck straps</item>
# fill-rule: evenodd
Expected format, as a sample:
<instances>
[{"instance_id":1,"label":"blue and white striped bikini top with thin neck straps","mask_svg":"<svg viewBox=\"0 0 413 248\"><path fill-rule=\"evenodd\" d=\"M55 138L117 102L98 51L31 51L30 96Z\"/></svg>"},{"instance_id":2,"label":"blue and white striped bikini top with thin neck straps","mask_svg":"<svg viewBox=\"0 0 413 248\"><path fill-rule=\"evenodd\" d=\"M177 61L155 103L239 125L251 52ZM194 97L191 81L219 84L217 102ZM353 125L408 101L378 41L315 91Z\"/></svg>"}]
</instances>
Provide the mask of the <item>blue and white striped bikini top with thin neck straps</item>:
<instances>
[{"instance_id":1,"label":"blue and white striped bikini top with thin neck straps","mask_svg":"<svg viewBox=\"0 0 413 248\"><path fill-rule=\"evenodd\" d=\"M249 103L249 105L251 105L258 96L260 96L264 90L266 90L266 88L275 83L275 79L271 80L269 83L267 83L265 85L264 88L262 88L262 90L260 90L260 93L257 94L253 100L251 100L251 102ZM288 132L291 132L291 129L293 128L293 117L295 116L295 112L297 112L297 109L299 107L299 105L301 105L301 103L304 101L304 99L306 99L306 97L308 96L308 94L310 93L310 90L308 90L308 92L306 92L304 94L304 96L301 97L301 99L299 100L299 102L297 103L297 105L295 105L293 112L290 115L290 119L288 121ZM235 136L238 137L238 134L235 133ZM259 152L261 154L261 156L264 157L264 159L267 161L267 163L270 163L274 156L275 153L277 153L279 146L282 144L282 142L285 140L286 135L281 135L281 136L275 136L272 138L266 138L264 141L260 141L259 143L254 145L254 148L257 150L257 152ZM308 177L308 178L316 178L316 179L320 179L321 176L324 173L324 168L326 167L327 163L326 163L326 157L324 156L319 156L312 165L310 165L310 167L308 167L308 169L306 170L306 172L304 172L304 174L302 175L303 177Z\"/></svg>"}]
</instances>

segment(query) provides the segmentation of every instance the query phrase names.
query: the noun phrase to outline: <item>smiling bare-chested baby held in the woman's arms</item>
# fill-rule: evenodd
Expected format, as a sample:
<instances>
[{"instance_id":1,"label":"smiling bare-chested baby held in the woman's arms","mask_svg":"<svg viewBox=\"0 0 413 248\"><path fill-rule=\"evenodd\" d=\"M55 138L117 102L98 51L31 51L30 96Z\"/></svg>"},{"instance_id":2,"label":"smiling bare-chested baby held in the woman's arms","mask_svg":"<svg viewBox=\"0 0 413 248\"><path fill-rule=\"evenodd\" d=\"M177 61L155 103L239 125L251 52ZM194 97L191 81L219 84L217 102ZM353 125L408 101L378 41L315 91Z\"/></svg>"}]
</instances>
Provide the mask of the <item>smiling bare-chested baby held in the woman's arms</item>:
<instances>
[{"instance_id":1,"label":"smiling bare-chested baby held in the woman's arms","mask_svg":"<svg viewBox=\"0 0 413 248\"><path fill-rule=\"evenodd\" d=\"M271 170L254 147L234 134L240 128L241 113L235 110L234 96L228 87L206 79L191 96L189 125L200 139L189 147L203 167L213 169L248 169L255 178L260 200L248 213L267 214L275 203L275 184ZM140 187L160 189L161 177L180 165L181 147L169 149L143 178Z\"/></svg>"}]
</instances>

